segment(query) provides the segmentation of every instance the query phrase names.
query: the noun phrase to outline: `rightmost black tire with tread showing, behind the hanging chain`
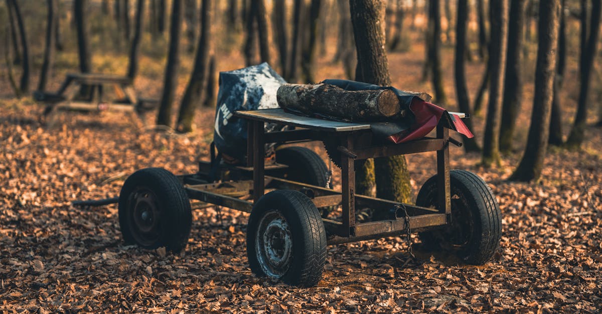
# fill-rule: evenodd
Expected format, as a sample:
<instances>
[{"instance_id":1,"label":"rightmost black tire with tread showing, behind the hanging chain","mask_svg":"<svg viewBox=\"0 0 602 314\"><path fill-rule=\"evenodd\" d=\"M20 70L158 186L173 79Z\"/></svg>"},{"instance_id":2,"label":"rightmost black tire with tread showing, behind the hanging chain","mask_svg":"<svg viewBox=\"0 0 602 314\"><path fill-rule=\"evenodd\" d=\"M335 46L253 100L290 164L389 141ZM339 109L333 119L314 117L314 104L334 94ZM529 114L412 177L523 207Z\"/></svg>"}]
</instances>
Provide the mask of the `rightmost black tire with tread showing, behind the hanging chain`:
<instances>
[{"instance_id":1,"label":"rightmost black tire with tread showing, behind the hanging chain","mask_svg":"<svg viewBox=\"0 0 602 314\"><path fill-rule=\"evenodd\" d=\"M488 262L500 245L501 212L493 192L474 173L450 171L452 223L444 229L420 233L426 248L455 251L465 263ZM436 176L427 180L416 199L416 205L437 208Z\"/></svg>"}]
</instances>

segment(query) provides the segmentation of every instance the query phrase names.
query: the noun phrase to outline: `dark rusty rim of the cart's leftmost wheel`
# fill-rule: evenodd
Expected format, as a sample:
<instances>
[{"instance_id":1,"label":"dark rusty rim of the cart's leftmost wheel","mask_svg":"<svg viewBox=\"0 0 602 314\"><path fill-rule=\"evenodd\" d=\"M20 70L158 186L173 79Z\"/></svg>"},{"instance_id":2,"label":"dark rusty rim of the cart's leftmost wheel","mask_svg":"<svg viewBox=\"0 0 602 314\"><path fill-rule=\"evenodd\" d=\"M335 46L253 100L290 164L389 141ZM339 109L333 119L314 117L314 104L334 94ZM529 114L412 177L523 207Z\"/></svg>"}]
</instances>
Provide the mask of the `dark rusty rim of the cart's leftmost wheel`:
<instances>
[{"instance_id":1,"label":"dark rusty rim of the cart's leftmost wheel","mask_svg":"<svg viewBox=\"0 0 602 314\"><path fill-rule=\"evenodd\" d=\"M158 241L160 218L157 195L146 186L136 188L129 197L128 224L138 244L152 246Z\"/></svg>"}]
</instances>

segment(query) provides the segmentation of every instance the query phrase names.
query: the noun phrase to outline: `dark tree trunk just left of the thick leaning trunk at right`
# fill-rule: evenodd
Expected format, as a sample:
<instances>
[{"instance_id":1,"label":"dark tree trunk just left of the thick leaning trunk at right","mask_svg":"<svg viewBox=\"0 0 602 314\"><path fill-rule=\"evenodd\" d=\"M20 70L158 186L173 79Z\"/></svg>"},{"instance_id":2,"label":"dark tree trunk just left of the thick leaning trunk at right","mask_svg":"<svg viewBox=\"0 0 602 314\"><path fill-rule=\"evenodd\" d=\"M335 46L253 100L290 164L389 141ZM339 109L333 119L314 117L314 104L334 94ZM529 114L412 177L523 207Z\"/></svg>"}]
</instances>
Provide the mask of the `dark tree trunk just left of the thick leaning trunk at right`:
<instances>
[{"instance_id":1,"label":"dark tree trunk just left of the thick leaning trunk at right","mask_svg":"<svg viewBox=\"0 0 602 314\"><path fill-rule=\"evenodd\" d=\"M508 49L506 77L504 78L504 100L501 106L500 151L510 152L514 140L514 129L523 99L523 49L524 0L510 0L508 20Z\"/></svg>"}]
</instances>

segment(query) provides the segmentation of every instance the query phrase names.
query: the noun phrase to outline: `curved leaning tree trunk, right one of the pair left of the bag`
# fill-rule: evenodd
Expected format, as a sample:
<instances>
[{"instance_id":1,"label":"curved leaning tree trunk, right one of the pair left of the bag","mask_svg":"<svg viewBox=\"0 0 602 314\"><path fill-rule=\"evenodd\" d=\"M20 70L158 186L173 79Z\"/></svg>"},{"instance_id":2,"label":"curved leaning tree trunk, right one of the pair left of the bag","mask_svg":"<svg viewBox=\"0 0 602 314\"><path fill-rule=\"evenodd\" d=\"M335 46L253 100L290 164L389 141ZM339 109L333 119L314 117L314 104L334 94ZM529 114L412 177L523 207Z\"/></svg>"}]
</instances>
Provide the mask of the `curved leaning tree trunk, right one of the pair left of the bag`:
<instances>
[{"instance_id":1,"label":"curved leaning tree trunk, right one of the pair left of the bag","mask_svg":"<svg viewBox=\"0 0 602 314\"><path fill-rule=\"evenodd\" d=\"M203 87L207 77L209 45L211 40L211 0L203 0L200 11L200 36L194 56L193 71L184 91L178 114L178 132L193 130L194 112L202 101Z\"/></svg>"}]
</instances>

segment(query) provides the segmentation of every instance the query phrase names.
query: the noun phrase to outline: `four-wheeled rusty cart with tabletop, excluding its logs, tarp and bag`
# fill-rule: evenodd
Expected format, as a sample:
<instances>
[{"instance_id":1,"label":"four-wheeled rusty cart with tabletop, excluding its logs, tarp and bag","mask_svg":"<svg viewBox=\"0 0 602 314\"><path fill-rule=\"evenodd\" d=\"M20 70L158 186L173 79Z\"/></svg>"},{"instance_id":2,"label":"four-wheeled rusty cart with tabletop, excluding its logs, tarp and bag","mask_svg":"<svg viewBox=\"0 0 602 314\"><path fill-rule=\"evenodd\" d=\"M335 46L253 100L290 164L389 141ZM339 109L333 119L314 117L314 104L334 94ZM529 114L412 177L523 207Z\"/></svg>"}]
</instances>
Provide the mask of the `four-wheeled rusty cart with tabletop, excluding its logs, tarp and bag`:
<instances>
[{"instance_id":1,"label":"four-wheeled rusty cart with tabletop, excluding its logs, tarp and bag","mask_svg":"<svg viewBox=\"0 0 602 314\"><path fill-rule=\"evenodd\" d=\"M211 167L217 163L213 157L212 162L200 162L194 174L176 177L160 168L132 174L119 197L126 242L182 250L191 227L188 200L196 199L249 212L250 268L258 276L291 285L315 285L326 262L326 246L332 244L420 232L423 243L453 250L474 264L485 263L497 249L501 236L498 204L480 177L450 171L449 144L459 143L449 137L448 129L438 126L434 138L389 144L373 139L366 124L300 117L282 109L235 115L249 122L246 165ZM265 133L264 123L296 129ZM289 148L282 154L287 158L279 158L277 151L276 162L265 164L266 143L301 141L323 141L329 155L338 159L334 161L341 167L340 192L324 186L327 168L308 149ZM355 161L431 151L436 151L437 171L424 183L416 205L355 193ZM266 190L270 192L264 194ZM340 219L321 217L319 208L333 206L341 206ZM358 223L357 208L373 209L380 214L374 217L380 218Z\"/></svg>"}]
</instances>

